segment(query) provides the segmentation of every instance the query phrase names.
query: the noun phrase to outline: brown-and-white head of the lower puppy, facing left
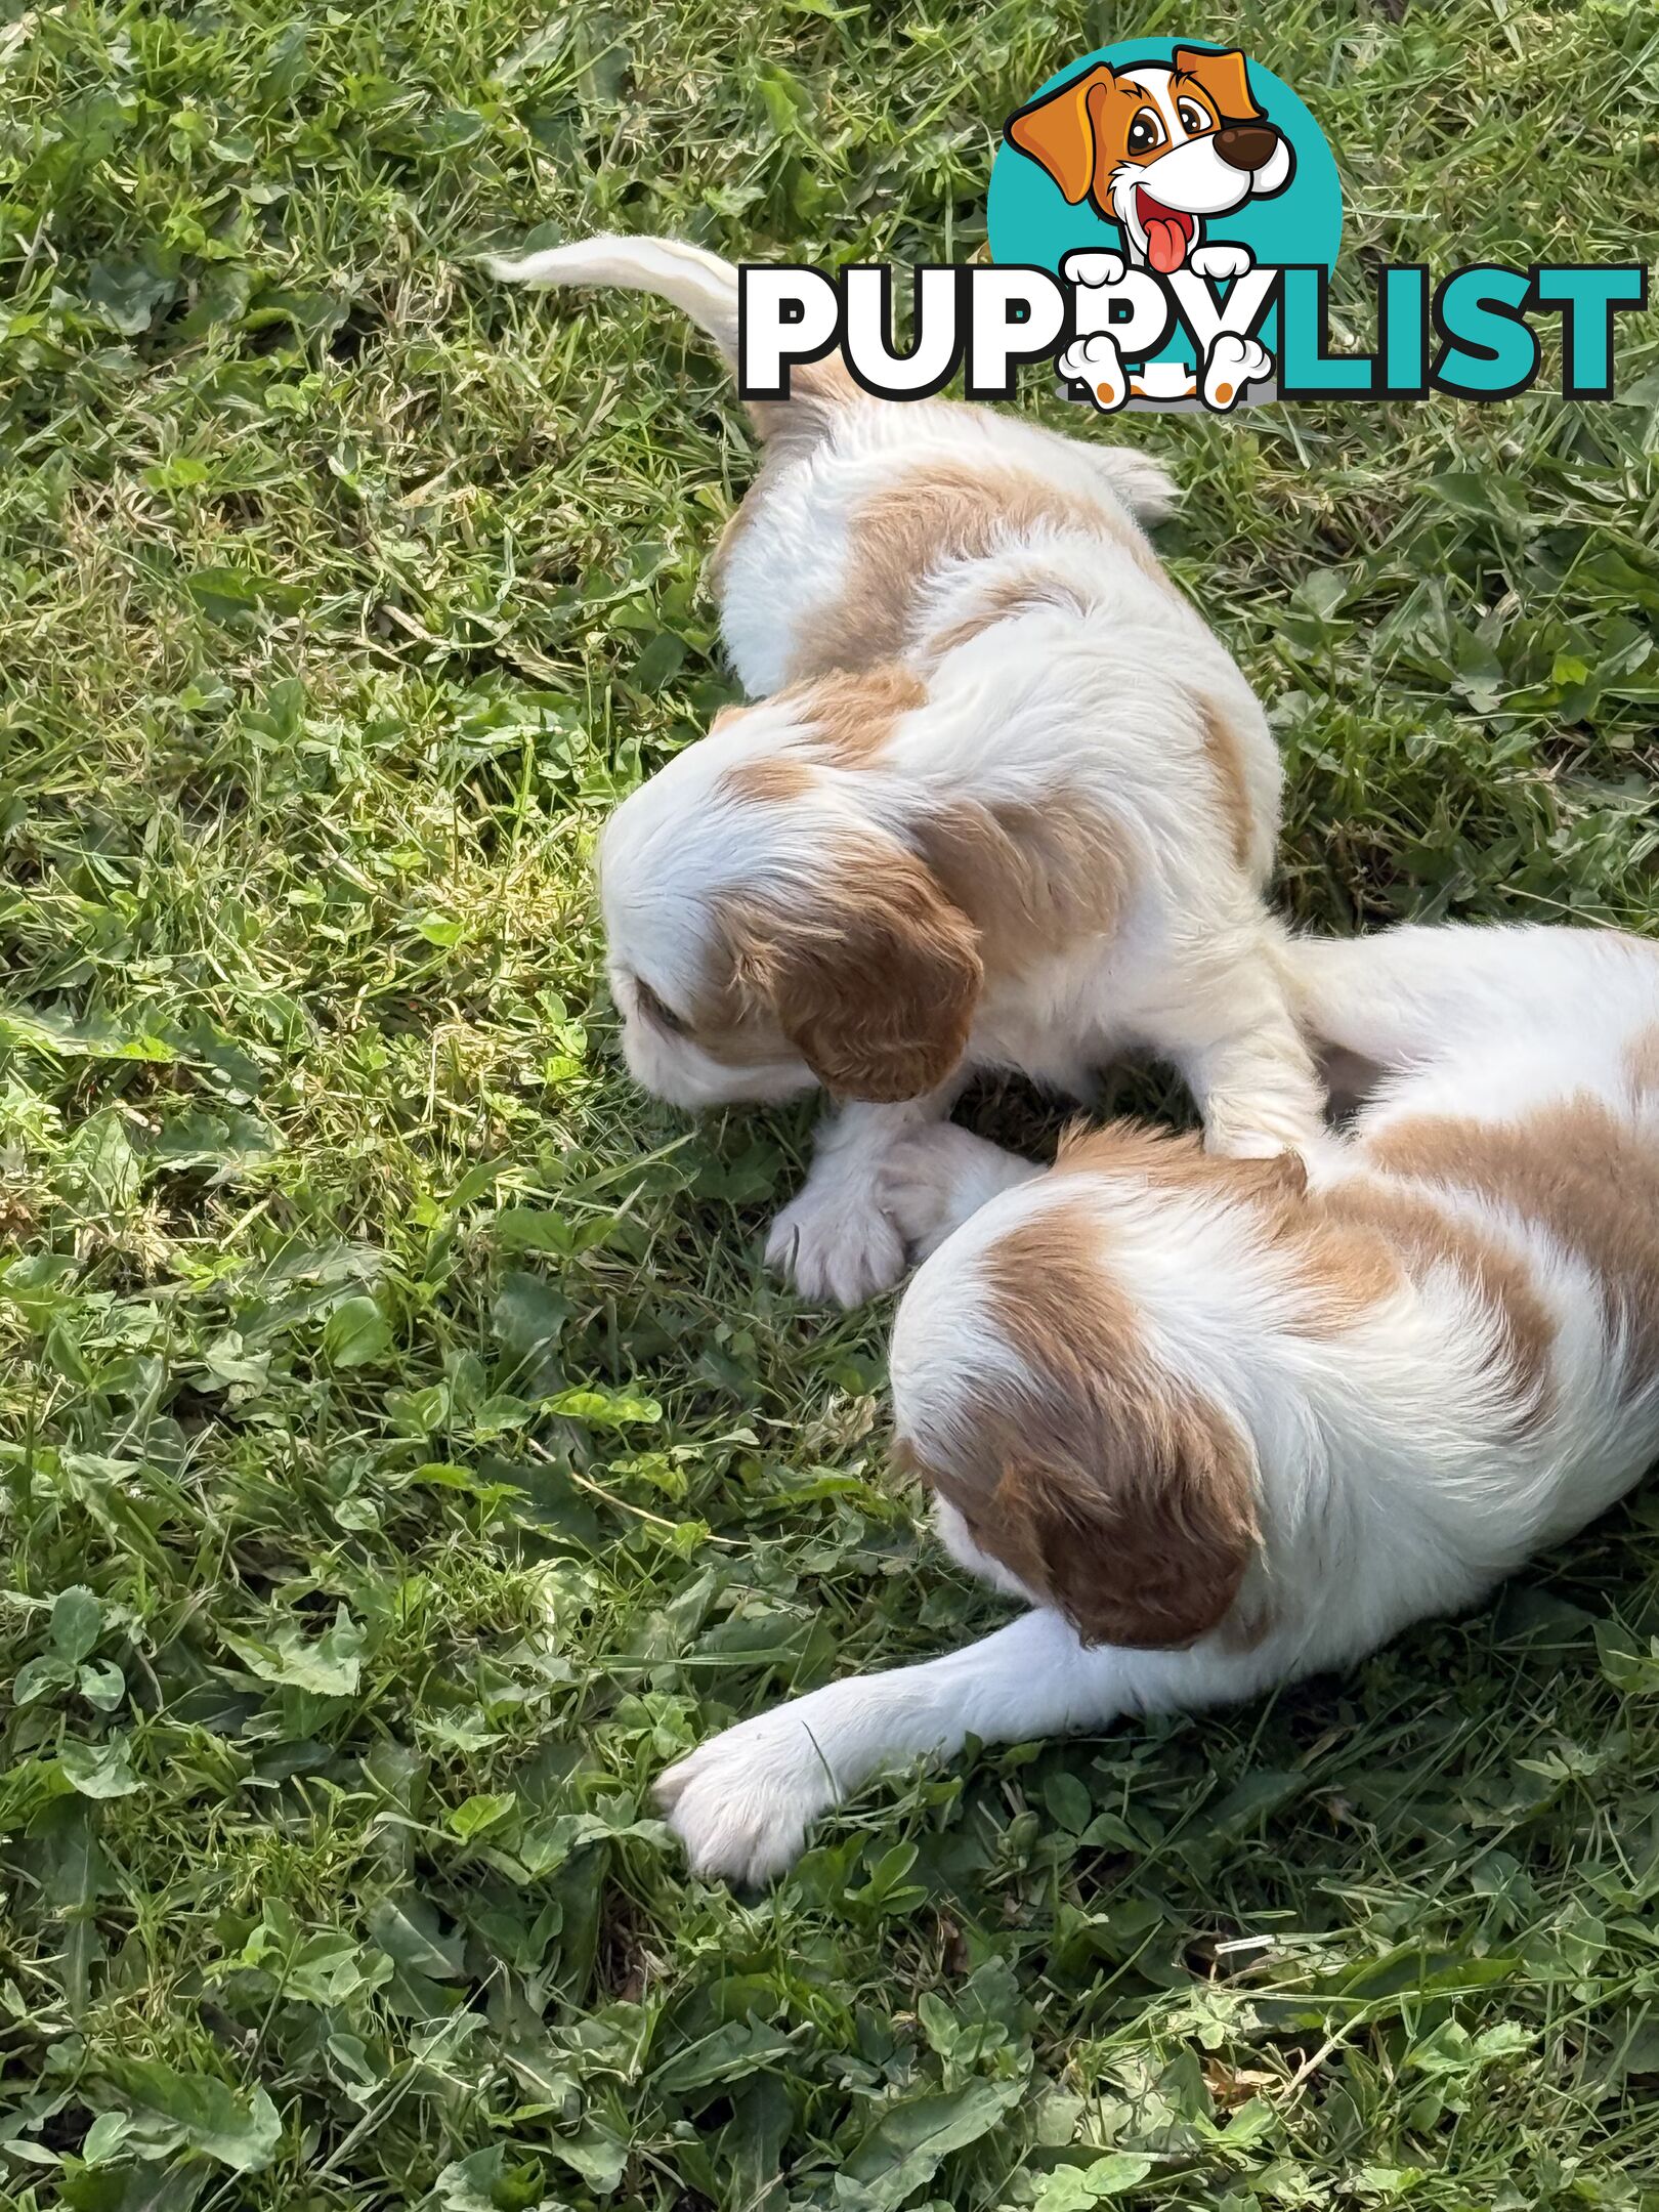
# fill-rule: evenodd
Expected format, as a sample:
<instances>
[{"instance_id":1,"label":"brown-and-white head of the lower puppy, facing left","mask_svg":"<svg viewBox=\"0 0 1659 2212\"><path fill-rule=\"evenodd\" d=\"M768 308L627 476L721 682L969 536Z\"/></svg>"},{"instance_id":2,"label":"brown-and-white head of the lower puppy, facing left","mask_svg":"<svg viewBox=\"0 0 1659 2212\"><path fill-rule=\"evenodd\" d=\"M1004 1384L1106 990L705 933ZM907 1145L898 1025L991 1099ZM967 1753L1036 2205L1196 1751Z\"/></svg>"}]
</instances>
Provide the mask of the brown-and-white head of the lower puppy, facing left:
<instances>
[{"instance_id":1,"label":"brown-and-white head of the lower puppy, facing left","mask_svg":"<svg viewBox=\"0 0 1659 2212\"><path fill-rule=\"evenodd\" d=\"M1256 1559L1243 1431L1157 1358L1079 1177L1026 1183L947 1239L891 1345L900 1462L964 1566L1084 1644L1219 1628Z\"/></svg>"}]
</instances>

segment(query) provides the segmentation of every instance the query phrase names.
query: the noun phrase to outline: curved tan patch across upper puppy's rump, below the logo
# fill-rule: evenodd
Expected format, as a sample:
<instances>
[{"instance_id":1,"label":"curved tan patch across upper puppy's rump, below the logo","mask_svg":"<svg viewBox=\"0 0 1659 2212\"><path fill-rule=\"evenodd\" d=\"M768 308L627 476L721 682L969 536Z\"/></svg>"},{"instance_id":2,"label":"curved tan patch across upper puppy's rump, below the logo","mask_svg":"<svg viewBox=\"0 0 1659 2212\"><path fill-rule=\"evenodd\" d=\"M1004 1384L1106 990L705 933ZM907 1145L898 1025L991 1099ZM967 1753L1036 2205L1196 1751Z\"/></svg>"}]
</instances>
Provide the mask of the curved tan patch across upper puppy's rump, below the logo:
<instances>
[{"instance_id":1,"label":"curved tan patch across upper puppy's rump, below the logo","mask_svg":"<svg viewBox=\"0 0 1659 2212\"><path fill-rule=\"evenodd\" d=\"M914 639L927 582L940 568L1013 551L1042 529L1088 531L1108 540L1166 591L1157 555L1126 515L1099 500L1060 491L1020 469L938 462L911 469L872 493L852 515L841 599L796 639L790 677L830 668L869 668L900 659Z\"/></svg>"}]
</instances>

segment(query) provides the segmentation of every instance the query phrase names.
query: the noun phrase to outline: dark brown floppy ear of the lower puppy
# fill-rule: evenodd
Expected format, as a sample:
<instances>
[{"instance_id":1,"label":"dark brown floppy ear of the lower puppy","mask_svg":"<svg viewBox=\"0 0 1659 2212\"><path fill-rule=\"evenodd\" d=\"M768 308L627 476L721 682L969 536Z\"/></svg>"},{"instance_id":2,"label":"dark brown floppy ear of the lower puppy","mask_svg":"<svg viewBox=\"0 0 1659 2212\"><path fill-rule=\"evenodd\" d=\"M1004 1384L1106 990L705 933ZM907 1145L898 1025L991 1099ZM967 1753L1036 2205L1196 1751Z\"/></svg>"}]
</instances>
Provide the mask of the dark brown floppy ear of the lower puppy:
<instances>
[{"instance_id":1,"label":"dark brown floppy ear of the lower puppy","mask_svg":"<svg viewBox=\"0 0 1659 2212\"><path fill-rule=\"evenodd\" d=\"M1009 1460L998 1553L1084 1644L1192 1644L1228 1617L1261 1542L1243 1440L1197 1402L1128 1422L1091 1407L1082 1429L1075 1458Z\"/></svg>"}]
</instances>

